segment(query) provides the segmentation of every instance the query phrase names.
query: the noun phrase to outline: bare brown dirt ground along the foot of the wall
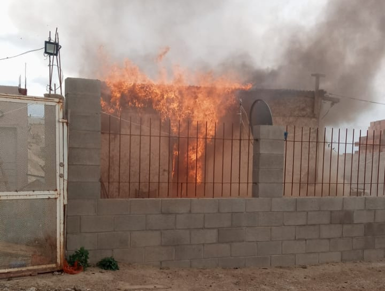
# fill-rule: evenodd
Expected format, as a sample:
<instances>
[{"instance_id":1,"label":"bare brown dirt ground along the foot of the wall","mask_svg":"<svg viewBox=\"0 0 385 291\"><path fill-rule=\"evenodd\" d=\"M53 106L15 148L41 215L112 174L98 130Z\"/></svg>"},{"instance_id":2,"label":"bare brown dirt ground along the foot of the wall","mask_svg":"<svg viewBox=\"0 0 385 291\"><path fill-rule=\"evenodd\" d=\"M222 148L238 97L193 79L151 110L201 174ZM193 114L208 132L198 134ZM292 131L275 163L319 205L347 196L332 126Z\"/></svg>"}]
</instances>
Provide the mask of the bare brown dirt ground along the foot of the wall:
<instances>
[{"instance_id":1,"label":"bare brown dirt ground along the foot of the wall","mask_svg":"<svg viewBox=\"0 0 385 291\"><path fill-rule=\"evenodd\" d=\"M57 274L57 273L56 273ZM166 269L120 264L119 271L88 268L78 275L0 281L1 291L375 291L385 290L385 262L307 268Z\"/></svg>"}]
</instances>

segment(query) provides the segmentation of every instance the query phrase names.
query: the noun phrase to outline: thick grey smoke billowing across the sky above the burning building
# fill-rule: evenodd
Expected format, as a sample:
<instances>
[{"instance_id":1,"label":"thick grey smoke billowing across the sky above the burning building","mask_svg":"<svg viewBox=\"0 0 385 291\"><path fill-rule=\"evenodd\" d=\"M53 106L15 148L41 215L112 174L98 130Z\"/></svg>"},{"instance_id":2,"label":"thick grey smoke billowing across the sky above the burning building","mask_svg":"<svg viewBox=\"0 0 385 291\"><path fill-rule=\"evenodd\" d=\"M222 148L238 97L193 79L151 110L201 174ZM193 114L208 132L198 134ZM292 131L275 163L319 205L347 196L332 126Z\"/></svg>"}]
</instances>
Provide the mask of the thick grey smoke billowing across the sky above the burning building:
<instances>
[{"instance_id":1,"label":"thick grey smoke billowing across the sky above the burning building","mask_svg":"<svg viewBox=\"0 0 385 291\"><path fill-rule=\"evenodd\" d=\"M303 5L319 8L318 2ZM268 5L244 0L20 0L10 13L31 46L42 42L48 29L59 27L67 75L95 77L100 45L113 61L128 57L154 74L152 61L169 46L163 59L168 67L235 70L255 87L290 89L313 89L310 74L319 72L326 74L321 88L330 93L374 98L373 80L385 53L385 1L329 0L320 10L306 10L316 22L304 25L279 20L279 5ZM255 14L255 7L266 10ZM297 8L286 13L304 17ZM323 121L347 123L368 109L367 103L341 99Z\"/></svg>"}]
</instances>

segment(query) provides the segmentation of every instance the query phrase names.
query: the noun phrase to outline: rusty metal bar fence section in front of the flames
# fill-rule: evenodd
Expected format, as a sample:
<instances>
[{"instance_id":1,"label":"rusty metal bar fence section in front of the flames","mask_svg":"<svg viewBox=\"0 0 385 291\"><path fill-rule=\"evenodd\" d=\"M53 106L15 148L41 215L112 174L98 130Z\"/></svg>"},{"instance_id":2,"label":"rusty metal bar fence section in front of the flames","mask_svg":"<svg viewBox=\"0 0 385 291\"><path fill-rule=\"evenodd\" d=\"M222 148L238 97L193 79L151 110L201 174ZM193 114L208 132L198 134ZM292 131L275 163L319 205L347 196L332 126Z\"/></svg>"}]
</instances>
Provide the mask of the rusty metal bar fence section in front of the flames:
<instances>
[{"instance_id":1,"label":"rusty metal bar fence section in front of the flames","mask_svg":"<svg viewBox=\"0 0 385 291\"><path fill-rule=\"evenodd\" d=\"M101 197L250 197L243 124L101 114Z\"/></svg>"}]
</instances>

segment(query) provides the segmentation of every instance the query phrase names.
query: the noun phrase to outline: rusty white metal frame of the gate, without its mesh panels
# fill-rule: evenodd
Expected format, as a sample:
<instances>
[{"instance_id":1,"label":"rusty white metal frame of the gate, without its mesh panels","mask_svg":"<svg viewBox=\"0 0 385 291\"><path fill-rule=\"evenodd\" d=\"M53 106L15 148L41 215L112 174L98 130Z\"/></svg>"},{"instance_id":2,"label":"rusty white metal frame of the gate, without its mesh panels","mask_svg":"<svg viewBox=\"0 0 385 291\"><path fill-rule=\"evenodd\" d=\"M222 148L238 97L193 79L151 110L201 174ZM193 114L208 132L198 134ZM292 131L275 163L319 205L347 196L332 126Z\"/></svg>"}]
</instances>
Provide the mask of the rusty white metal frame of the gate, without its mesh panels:
<instances>
[{"instance_id":1,"label":"rusty white metal frame of the gate, without its mesh panels","mask_svg":"<svg viewBox=\"0 0 385 291\"><path fill-rule=\"evenodd\" d=\"M57 95L56 95L57 96ZM20 191L0 192L0 200L16 199L55 199L56 200L56 263L51 265L31 266L12 269L0 269L1 277L16 274L42 273L61 270L64 261L64 205L67 204L67 141L68 127L64 119L64 98L20 96L0 94L0 101L55 106L56 134L56 190L55 191Z\"/></svg>"}]
</instances>

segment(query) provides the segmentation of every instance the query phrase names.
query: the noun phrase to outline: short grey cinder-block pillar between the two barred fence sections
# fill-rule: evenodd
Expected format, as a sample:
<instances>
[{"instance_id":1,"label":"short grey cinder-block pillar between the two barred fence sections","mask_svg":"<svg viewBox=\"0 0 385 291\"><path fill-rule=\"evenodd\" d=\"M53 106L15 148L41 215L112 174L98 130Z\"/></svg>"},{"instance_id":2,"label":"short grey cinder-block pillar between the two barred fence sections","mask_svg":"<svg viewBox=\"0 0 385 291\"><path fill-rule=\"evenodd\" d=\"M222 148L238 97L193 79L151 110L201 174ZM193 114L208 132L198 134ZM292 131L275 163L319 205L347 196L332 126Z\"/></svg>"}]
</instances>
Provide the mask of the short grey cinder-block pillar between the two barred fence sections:
<instances>
[{"instance_id":1,"label":"short grey cinder-block pillar between the two barred fence sections","mask_svg":"<svg viewBox=\"0 0 385 291\"><path fill-rule=\"evenodd\" d=\"M257 125L252 135L252 197L282 197L284 128Z\"/></svg>"}]
</instances>

